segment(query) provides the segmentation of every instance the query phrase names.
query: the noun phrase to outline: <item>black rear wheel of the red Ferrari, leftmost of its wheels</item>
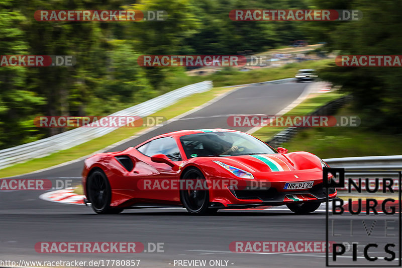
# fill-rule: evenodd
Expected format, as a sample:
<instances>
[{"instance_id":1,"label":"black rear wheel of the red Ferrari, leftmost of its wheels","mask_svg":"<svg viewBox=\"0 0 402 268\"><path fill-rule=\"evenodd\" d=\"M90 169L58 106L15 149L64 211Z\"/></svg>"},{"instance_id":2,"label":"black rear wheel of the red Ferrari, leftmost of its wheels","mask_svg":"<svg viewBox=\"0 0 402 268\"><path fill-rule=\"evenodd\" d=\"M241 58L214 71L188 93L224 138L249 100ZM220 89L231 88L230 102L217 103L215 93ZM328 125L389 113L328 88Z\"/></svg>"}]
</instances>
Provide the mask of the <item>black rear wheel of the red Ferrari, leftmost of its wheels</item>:
<instances>
[{"instance_id":1,"label":"black rear wheel of the red Ferrari, leftmost of its wheels","mask_svg":"<svg viewBox=\"0 0 402 268\"><path fill-rule=\"evenodd\" d=\"M92 209L97 214L119 214L123 211L121 208L112 208L110 202L112 199L112 189L108 177L100 170L94 170L86 182L86 194L88 201L92 204Z\"/></svg>"}]
</instances>

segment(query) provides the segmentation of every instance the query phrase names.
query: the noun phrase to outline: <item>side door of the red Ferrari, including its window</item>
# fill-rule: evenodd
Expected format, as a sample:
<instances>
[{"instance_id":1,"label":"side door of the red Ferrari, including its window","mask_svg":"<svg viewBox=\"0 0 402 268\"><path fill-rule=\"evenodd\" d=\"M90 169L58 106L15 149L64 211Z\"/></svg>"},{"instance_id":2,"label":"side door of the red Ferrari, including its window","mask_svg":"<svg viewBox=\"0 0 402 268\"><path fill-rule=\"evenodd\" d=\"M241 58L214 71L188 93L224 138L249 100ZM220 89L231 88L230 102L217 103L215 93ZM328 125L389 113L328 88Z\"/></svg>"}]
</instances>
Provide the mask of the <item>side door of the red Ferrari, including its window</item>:
<instances>
[{"instance_id":1,"label":"side door of the red Ferrari, including its window","mask_svg":"<svg viewBox=\"0 0 402 268\"><path fill-rule=\"evenodd\" d=\"M151 156L162 153L180 165L182 158L176 140L172 137L162 137L137 149L143 154L139 160L157 170L157 172L151 172L144 176L139 173L140 176L137 178L138 198L152 203L158 203L158 201L166 204L179 203L178 171L173 170L171 166L165 163L155 163L151 160ZM137 164L137 168L141 168L140 164ZM133 171L136 172L136 167Z\"/></svg>"}]
</instances>

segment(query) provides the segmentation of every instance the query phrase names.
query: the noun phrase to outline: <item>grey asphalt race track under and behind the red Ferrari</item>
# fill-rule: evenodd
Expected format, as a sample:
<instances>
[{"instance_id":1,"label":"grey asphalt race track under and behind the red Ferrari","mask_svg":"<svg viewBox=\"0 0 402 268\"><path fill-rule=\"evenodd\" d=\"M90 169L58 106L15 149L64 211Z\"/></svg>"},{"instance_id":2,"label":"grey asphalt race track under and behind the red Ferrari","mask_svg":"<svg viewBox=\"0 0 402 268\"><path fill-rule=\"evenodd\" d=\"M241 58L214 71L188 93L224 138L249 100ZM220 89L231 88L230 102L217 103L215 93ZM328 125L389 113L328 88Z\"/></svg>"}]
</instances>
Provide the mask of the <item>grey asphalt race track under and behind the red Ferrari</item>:
<instances>
[{"instance_id":1,"label":"grey asphalt race track under and behind the red Ferrari","mask_svg":"<svg viewBox=\"0 0 402 268\"><path fill-rule=\"evenodd\" d=\"M113 150L176 130L230 128L228 115L274 115L297 99L308 85L290 82L247 86ZM78 184L82 165L79 161L19 178L70 178ZM140 267L178 267L174 260L217 259L228 260L228 267L325 266L323 253L234 253L229 249L232 241L325 241L323 212L300 216L288 210L226 210L213 216L191 216L184 209L139 209L119 215L96 215L88 207L40 200L42 193L0 193L0 260L139 259ZM348 220L343 224L348 228ZM40 241L139 241L146 245L145 249L149 242L159 242L164 243L164 252L41 254L34 249Z\"/></svg>"}]
</instances>

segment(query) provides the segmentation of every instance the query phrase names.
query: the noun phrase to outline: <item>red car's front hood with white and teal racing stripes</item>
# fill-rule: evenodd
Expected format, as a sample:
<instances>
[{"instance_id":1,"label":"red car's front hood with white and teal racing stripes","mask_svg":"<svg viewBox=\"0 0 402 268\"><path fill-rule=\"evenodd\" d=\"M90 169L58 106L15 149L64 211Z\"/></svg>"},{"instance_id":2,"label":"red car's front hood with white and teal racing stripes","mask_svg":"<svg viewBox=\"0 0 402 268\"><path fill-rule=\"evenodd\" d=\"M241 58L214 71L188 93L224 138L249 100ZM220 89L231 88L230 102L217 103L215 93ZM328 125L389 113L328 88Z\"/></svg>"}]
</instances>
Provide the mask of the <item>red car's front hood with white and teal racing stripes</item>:
<instances>
[{"instance_id":1,"label":"red car's front hood with white and teal racing stripes","mask_svg":"<svg viewBox=\"0 0 402 268\"><path fill-rule=\"evenodd\" d=\"M214 157L213 160L249 172L286 172L322 168L320 159L308 152L223 156Z\"/></svg>"}]
</instances>

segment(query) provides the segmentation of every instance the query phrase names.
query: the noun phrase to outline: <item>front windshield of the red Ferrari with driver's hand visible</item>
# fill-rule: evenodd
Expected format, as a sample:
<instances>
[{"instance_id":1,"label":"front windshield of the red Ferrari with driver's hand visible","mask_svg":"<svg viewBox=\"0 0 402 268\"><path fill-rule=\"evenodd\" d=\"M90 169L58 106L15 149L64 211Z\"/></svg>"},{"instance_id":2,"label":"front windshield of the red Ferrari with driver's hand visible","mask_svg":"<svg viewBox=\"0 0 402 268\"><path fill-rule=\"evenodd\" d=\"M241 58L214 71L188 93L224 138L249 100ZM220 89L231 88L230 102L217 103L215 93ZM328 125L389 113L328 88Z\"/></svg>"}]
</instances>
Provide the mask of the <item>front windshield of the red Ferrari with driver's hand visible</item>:
<instances>
[{"instance_id":1,"label":"front windshield of the red Ferrari with driver's hand visible","mask_svg":"<svg viewBox=\"0 0 402 268\"><path fill-rule=\"evenodd\" d=\"M242 132L209 132L180 137L187 158L276 153L271 147Z\"/></svg>"}]
</instances>

